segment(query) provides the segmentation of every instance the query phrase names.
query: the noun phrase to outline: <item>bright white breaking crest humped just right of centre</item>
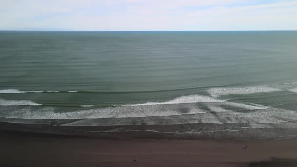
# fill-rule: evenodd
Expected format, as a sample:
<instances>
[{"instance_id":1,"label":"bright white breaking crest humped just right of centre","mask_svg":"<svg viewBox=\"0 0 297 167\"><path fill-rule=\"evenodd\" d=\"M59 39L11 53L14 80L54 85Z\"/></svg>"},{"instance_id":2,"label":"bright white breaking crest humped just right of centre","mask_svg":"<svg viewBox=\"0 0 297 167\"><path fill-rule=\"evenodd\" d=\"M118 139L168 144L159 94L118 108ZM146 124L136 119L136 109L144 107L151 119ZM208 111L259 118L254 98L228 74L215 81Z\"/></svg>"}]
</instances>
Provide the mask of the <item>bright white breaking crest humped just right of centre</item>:
<instances>
[{"instance_id":1,"label":"bright white breaking crest humped just right of centre","mask_svg":"<svg viewBox=\"0 0 297 167\"><path fill-rule=\"evenodd\" d=\"M198 94L181 96L166 102L147 102L142 104L126 104L123 106L137 106L137 105L160 105L160 104L184 104L184 103L199 103L199 102L224 102L225 100L214 99L209 96L202 96Z\"/></svg>"}]
</instances>

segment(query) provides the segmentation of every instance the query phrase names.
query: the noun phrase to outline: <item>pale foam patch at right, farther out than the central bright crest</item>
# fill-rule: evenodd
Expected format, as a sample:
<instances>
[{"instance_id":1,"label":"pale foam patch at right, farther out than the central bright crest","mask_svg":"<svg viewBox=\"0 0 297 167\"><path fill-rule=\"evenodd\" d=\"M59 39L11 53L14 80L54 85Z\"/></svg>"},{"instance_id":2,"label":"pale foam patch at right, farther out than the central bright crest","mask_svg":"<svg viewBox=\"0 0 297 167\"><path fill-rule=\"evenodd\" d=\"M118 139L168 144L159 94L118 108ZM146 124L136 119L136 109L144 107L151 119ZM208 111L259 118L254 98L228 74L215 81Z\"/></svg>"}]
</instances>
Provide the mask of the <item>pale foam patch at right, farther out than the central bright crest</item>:
<instances>
[{"instance_id":1,"label":"pale foam patch at right, farther out than the central bright crest","mask_svg":"<svg viewBox=\"0 0 297 167\"><path fill-rule=\"evenodd\" d=\"M268 87L268 86L251 86L251 87L233 87L233 88L211 88L207 92L212 97L220 97L223 95L230 95L230 94L254 94L254 93L270 93L282 91L278 88Z\"/></svg>"}]
</instances>

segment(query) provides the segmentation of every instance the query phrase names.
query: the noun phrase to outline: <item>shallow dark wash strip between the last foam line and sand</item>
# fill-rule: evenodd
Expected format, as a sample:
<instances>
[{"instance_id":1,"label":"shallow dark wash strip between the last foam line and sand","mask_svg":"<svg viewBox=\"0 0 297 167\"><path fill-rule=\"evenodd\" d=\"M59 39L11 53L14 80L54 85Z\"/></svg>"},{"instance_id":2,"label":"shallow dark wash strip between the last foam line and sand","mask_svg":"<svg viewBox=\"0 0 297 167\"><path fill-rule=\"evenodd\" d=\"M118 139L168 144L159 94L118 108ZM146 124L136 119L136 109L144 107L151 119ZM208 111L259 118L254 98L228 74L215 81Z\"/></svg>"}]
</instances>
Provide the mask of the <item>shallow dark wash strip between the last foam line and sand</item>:
<instances>
[{"instance_id":1,"label":"shallow dark wash strip between the last foam line and sand","mask_svg":"<svg viewBox=\"0 0 297 167\"><path fill-rule=\"evenodd\" d=\"M167 133L156 132L152 130L123 130L113 131L117 128L125 129L150 129L160 128L166 131L167 128L174 128L171 125L101 125L101 126L63 126L48 124L21 124L0 122L0 130L18 131L18 132L32 132L32 133L46 133L67 136L88 136L97 139L155 139L155 140L197 140L197 141L241 141L241 140L269 140L269 139L286 139L297 138L297 128L249 128L238 131L203 131L205 127L212 128L212 124L184 124L181 128L198 129L199 133ZM239 123L240 124L240 123ZM239 126L239 125L238 125ZM178 128L178 127L176 127ZM215 128L215 127L214 127ZM228 127L221 127L228 128Z\"/></svg>"}]
</instances>

